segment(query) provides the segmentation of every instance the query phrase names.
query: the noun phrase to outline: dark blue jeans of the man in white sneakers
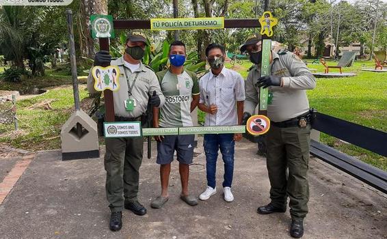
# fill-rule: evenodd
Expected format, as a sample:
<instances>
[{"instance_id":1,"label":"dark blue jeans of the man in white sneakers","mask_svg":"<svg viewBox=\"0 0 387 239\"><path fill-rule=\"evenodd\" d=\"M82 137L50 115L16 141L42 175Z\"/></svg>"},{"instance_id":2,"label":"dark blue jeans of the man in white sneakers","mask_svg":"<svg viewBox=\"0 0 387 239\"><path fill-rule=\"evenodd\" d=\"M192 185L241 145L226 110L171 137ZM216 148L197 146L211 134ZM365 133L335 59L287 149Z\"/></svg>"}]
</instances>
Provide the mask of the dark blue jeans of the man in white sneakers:
<instances>
[{"instance_id":1,"label":"dark blue jeans of the man in white sneakers","mask_svg":"<svg viewBox=\"0 0 387 239\"><path fill-rule=\"evenodd\" d=\"M224 163L223 186L231 187L234 173L234 134L204 135L204 152L206 152L207 185L215 188L216 160L220 148Z\"/></svg>"}]
</instances>

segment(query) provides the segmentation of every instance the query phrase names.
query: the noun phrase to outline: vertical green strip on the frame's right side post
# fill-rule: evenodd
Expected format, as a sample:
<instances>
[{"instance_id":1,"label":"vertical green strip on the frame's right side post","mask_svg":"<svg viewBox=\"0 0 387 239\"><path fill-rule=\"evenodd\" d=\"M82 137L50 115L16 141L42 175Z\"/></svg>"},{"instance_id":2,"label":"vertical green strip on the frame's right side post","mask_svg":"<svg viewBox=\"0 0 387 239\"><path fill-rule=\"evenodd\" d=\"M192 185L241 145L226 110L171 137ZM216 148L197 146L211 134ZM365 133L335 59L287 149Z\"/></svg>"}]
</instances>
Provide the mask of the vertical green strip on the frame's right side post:
<instances>
[{"instance_id":1,"label":"vertical green strip on the frame's right side post","mask_svg":"<svg viewBox=\"0 0 387 239\"><path fill-rule=\"evenodd\" d=\"M261 76L269 76L270 68L270 54L271 54L271 40L264 39L262 42L262 64L261 64ZM267 111L267 99L269 96L269 90L261 87L259 89L259 109L261 111Z\"/></svg>"}]
</instances>

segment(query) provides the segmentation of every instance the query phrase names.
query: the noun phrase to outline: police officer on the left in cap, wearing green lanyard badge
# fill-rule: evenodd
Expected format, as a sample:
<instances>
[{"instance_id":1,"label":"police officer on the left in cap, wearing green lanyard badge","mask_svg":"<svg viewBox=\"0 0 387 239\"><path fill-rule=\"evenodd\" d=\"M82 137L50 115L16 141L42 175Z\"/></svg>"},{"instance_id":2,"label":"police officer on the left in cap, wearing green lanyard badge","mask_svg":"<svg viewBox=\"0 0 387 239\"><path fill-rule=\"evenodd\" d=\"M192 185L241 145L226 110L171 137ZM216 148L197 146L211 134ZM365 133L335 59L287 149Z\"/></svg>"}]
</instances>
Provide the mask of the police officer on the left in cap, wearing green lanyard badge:
<instances>
[{"instance_id":1,"label":"police officer on the left in cap, wearing green lanyard badge","mask_svg":"<svg viewBox=\"0 0 387 239\"><path fill-rule=\"evenodd\" d=\"M142 64L146 37L132 31L126 38L125 53L111 61L107 51L96 53L94 66L109 64L120 69L120 89L113 92L116 122L140 121L146 113L148 100L154 107L162 107L165 98L155 72ZM88 90L94 93L94 79L88 77ZM122 208L137 215L146 214L146 208L137 199L139 167L142 163L143 137L106 138L105 170L106 195L111 210L109 227L122 227ZM124 197L122 197L122 194Z\"/></svg>"}]
</instances>

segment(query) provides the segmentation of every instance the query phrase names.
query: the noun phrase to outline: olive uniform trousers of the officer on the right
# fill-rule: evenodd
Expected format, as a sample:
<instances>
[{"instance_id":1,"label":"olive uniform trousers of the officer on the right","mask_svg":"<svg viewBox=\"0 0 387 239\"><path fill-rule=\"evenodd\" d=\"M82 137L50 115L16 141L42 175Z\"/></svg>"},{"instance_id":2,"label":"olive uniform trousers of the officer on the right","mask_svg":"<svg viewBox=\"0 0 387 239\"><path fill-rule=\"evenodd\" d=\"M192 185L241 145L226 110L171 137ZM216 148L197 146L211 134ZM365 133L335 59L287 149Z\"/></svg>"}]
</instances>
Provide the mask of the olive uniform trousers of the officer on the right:
<instances>
[{"instance_id":1,"label":"olive uniform trousers of the officer on the right","mask_svg":"<svg viewBox=\"0 0 387 239\"><path fill-rule=\"evenodd\" d=\"M266 135L267 171L270 199L273 206L289 207L293 219L303 219L308 213L308 161L310 124L305 128L271 126ZM286 172L286 169L289 169Z\"/></svg>"}]
</instances>

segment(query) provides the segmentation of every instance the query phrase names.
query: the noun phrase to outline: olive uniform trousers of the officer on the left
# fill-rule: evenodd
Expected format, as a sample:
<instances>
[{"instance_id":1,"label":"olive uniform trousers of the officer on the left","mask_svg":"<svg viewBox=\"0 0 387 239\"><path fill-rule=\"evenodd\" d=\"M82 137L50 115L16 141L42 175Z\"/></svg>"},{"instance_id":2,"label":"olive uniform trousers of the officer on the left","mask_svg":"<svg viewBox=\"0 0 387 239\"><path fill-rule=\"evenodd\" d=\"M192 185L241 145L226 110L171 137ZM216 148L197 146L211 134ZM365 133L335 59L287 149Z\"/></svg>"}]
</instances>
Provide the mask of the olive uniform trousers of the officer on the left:
<instances>
[{"instance_id":1,"label":"olive uniform trousers of the officer on the left","mask_svg":"<svg viewBox=\"0 0 387 239\"><path fill-rule=\"evenodd\" d=\"M105 138L105 144L107 201L111 212L120 212L124 208L124 200L137 201L144 139Z\"/></svg>"}]
</instances>

